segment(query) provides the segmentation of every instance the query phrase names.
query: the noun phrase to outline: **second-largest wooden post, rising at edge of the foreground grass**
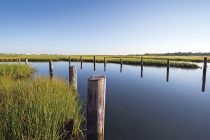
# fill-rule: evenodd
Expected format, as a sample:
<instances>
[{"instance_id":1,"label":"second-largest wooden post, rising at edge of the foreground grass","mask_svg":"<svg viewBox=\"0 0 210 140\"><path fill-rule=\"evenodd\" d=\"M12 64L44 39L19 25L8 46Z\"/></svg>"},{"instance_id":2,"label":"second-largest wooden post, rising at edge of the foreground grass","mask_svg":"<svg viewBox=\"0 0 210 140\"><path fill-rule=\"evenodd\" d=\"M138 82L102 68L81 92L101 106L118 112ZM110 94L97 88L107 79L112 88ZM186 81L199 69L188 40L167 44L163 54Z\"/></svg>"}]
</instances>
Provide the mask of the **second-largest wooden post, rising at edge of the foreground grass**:
<instances>
[{"instance_id":1,"label":"second-largest wooden post, rising at edge of the foreground grass","mask_svg":"<svg viewBox=\"0 0 210 140\"><path fill-rule=\"evenodd\" d=\"M74 88L77 90L77 69L75 66L69 67L69 83L73 84Z\"/></svg>"}]
</instances>

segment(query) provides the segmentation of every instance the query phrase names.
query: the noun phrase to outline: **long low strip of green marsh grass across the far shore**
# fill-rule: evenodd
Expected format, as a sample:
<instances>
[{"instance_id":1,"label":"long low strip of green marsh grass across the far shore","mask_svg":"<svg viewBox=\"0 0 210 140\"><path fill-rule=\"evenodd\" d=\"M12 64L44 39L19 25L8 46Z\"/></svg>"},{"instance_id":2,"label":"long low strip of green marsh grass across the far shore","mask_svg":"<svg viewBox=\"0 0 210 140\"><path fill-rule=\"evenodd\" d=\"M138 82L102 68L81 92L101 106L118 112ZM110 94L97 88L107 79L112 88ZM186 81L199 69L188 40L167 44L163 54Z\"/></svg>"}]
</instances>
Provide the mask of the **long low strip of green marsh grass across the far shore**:
<instances>
[{"instance_id":1,"label":"long low strip of green marsh grass across the far shore","mask_svg":"<svg viewBox=\"0 0 210 140\"><path fill-rule=\"evenodd\" d=\"M96 61L103 62L104 57L106 57L107 62L109 63L119 63L119 58L121 57L124 64L130 65L139 65L141 56L108 56L108 55L97 55ZM171 60L171 67L176 68L187 68L195 69L198 68L198 65L191 64L188 62L202 62L203 57L201 56L143 56L144 64L147 66L166 66L166 60ZM0 61L18 61L21 59L24 61L25 58L28 58L31 62L39 61L68 61L68 55L0 55ZM72 61L79 61L79 55L72 55ZM93 56L85 55L83 56L83 62L92 62ZM183 62L184 61L184 62ZM210 62L210 58L208 59Z\"/></svg>"}]
</instances>

